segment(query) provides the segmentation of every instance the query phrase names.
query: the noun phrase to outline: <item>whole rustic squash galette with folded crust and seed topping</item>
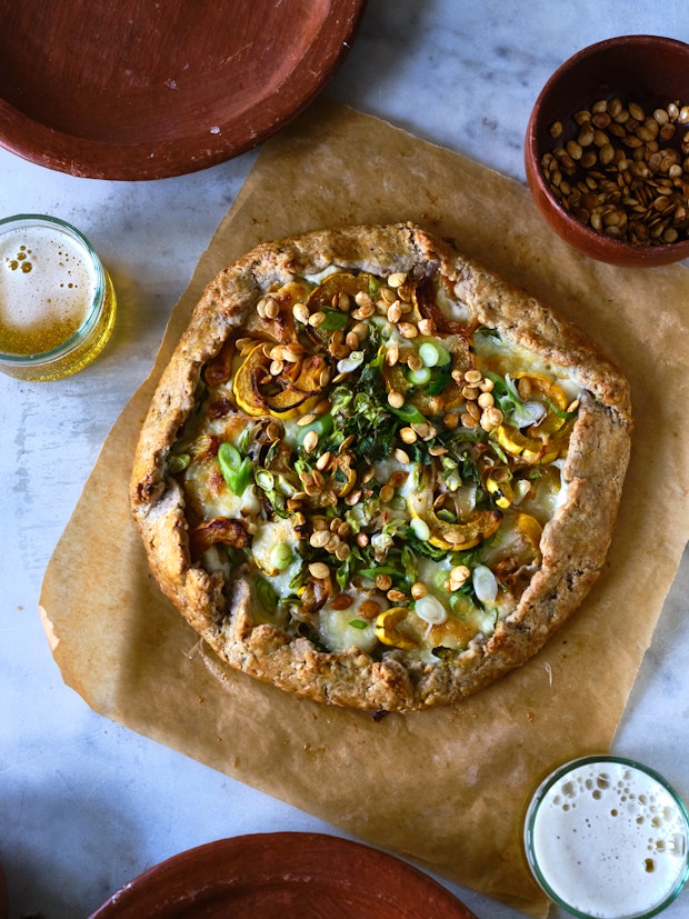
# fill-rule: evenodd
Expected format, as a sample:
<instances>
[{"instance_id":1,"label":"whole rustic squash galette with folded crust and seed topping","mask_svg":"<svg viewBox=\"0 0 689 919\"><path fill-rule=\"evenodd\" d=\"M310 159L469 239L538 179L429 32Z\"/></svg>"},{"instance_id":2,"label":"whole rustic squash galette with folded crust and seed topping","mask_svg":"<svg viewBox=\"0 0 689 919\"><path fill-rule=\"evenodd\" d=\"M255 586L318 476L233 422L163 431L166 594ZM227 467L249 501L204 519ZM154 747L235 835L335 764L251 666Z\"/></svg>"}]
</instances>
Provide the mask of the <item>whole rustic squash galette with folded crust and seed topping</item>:
<instances>
[{"instance_id":1,"label":"whole rustic squash galette with folded crust and seed topping","mask_svg":"<svg viewBox=\"0 0 689 919\"><path fill-rule=\"evenodd\" d=\"M519 667L610 542L627 382L585 334L420 228L259 246L162 374L131 507L220 658L413 711Z\"/></svg>"}]
</instances>

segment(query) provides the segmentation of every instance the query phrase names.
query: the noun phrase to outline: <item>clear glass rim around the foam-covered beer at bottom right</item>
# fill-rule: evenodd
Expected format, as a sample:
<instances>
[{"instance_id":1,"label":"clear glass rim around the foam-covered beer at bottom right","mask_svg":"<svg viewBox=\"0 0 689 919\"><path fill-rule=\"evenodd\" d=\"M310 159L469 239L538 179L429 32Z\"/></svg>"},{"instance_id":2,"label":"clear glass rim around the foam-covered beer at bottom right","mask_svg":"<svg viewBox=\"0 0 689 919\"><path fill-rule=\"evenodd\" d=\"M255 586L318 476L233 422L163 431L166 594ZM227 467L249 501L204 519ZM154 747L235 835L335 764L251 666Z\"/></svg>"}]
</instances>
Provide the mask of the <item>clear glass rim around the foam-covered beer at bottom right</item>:
<instances>
[{"instance_id":1,"label":"clear glass rim around the foam-covered beer at bottom right","mask_svg":"<svg viewBox=\"0 0 689 919\"><path fill-rule=\"evenodd\" d=\"M677 806L677 809L679 811L679 815L680 815L681 819L683 820L685 836L686 836L687 841L689 842L689 809L688 809L687 805L685 803L683 799L680 797L677 789L673 788L673 786L670 785L670 782L663 776L661 776L660 772L657 772L650 766L646 766L645 763L639 762L638 760L629 759L627 757L620 757L620 756L613 756L613 755L603 755L603 753L577 757L575 759L571 759L571 760L562 763L561 766L558 766L556 769L553 769L551 772L549 772L548 776L546 776L546 778L541 781L541 783L538 786L538 788L536 789L536 791L531 796L531 799L529 801L529 806L527 808L526 817L525 817L523 846L525 846L525 850L526 850L527 862L529 865L529 868L531 869L531 872L532 872L535 879L537 880L539 887L541 888L541 890L557 906L561 907L562 909L566 909L572 916L577 917L577 919L595 919L595 917L592 917L591 913L589 913L589 912L581 912L581 910L578 910L576 907L571 906L571 903L568 903L548 883L548 880L545 878L545 876L543 876L543 873L540 869L538 858L536 857L536 853L533 851L533 825L535 825L535 821L538 817L540 806L542 805L546 795L552 788L552 786L557 781L559 781L561 778L567 776L569 772L572 772L575 769L577 769L579 767L582 767L582 766L593 765L593 763L601 763L601 765L615 763L615 765L619 765L619 766L626 766L630 769L635 769L639 772L642 772L643 775L648 776L650 779L653 779L656 782L658 782L658 785L660 785L668 792L668 795L672 798L672 800L675 801L675 803ZM677 897L679 897L679 895L682 892L685 886L687 885L688 880L689 880L689 851L685 851L685 867L683 867L683 870L679 875L679 877L678 877L676 883L673 885L672 889L669 890L668 893L666 893L666 896L661 900L659 900L657 903L655 903L652 907L649 907L648 909L643 909L642 911L620 915L620 916L615 917L615 919L651 919L651 917L658 916L659 912L662 912L663 909L667 909L667 907L669 907L670 903L673 902L677 899Z\"/></svg>"}]
</instances>

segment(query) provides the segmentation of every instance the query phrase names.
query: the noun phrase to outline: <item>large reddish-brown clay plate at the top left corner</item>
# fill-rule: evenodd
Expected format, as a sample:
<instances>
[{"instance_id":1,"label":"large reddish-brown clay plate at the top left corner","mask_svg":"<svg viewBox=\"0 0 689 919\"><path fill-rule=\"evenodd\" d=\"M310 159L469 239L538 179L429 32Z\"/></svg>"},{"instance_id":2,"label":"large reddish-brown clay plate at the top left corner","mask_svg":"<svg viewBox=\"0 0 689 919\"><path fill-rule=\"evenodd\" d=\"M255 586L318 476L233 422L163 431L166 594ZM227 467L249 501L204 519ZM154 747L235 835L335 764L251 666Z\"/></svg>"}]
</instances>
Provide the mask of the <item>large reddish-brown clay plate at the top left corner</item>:
<instances>
[{"instance_id":1,"label":"large reddish-brown clay plate at the top left corner","mask_svg":"<svg viewBox=\"0 0 689 919\"><path fill-rule=\"evenodd\" d=\"M99 179L260 143L343 61L366 0L0 0L0 144Z\"/></svg>"}]
</instances>

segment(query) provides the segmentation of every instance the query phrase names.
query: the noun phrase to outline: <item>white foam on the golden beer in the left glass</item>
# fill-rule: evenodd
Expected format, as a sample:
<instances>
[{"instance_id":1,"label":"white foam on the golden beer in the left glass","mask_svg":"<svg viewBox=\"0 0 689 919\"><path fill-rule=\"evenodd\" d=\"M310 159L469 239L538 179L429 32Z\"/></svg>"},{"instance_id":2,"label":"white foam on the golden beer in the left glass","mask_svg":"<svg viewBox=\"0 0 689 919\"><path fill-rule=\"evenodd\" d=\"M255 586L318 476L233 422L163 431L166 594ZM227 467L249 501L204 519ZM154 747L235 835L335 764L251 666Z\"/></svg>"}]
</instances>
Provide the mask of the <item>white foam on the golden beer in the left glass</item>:
<instances>
[{"instance_id":1,"label":"white foam on the golden beer in the left glass","mask_svg":"<svg viewBox=\"0 0 689 919\"><path fill-rule=\"evenodd\" d=\"M0 236L2 338L58 326L64 340L88 316L96 288L89 253L78 240L40 226Z\"/></svg>"}]
</instances>

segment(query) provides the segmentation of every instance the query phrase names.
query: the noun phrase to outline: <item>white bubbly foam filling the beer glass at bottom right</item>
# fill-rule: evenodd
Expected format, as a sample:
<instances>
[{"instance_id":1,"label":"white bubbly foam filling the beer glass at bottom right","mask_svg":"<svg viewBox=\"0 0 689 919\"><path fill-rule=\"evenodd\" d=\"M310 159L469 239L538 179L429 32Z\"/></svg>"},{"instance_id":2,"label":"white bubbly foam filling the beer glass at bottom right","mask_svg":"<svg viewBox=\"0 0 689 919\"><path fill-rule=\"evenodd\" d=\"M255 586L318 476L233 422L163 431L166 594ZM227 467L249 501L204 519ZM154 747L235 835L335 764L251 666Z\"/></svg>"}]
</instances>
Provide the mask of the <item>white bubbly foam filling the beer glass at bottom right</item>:
<instances>
[{"instance_id":1,"label":"white bubbly foam filling the beer glass at bottom right","mask_svg":"<svg viewBox=\"0 0 689 919\"><path fill-rule=\"evenodd\" d=\"M632 765L588 762L548 789L531 825L551 891L598 919L639 916L677 890L687 818L668 789Z\"/></svg>"}]
</instances>

